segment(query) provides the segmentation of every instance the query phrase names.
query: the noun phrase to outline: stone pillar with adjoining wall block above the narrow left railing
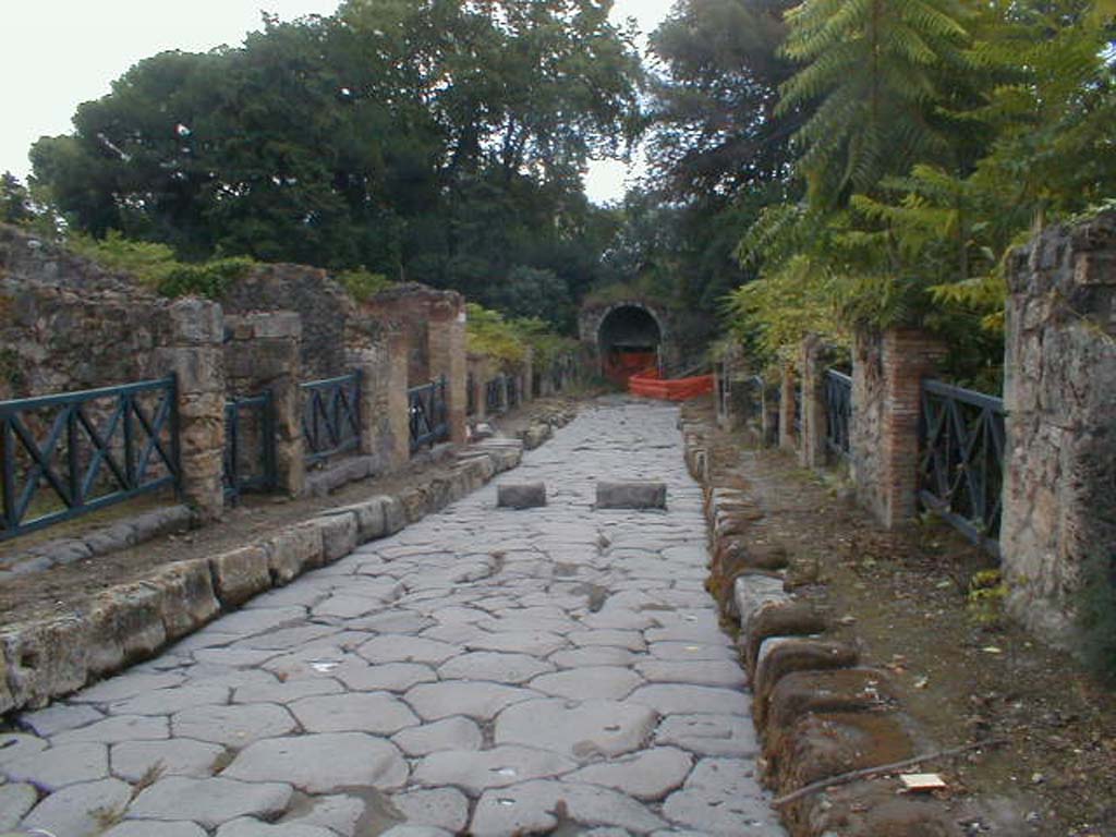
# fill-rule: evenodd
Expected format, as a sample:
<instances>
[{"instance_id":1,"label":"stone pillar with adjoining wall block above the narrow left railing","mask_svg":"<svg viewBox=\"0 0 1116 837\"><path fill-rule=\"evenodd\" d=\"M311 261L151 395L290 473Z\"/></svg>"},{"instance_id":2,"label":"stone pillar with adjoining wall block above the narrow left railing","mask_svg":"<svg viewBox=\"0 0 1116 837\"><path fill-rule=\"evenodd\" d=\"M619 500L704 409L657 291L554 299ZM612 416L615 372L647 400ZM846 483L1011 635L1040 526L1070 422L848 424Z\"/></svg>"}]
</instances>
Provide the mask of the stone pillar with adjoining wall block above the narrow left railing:
<instances>
[{"instance_id":1,"label":"stone pillar with adjoining wall block above the narrow left railing","mask_svg":"<svg viewBox=\"0 0 1116 837\"><path fill-rule=\"evenodd\" d=\"M268 311L229 316L224 325L229 395L246 397L271 392L276 488L298 497L306 484L302 403L298 388L302 319L294 311Z\"/></svg>"}]
</instances>

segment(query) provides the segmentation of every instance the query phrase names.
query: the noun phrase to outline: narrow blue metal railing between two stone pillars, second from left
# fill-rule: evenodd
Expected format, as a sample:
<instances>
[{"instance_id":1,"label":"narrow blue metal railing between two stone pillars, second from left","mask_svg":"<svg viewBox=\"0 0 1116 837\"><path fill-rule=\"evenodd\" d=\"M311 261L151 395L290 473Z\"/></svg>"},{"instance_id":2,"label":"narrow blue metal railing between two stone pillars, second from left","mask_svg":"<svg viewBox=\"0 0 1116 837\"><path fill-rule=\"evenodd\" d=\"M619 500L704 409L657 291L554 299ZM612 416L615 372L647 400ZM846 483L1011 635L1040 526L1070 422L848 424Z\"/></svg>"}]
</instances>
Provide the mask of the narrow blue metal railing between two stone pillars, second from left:
<instances>
[{"instance_id":1,"label":"narrow blue metal railing between two stone pillars, second from left","mask_svg":"<svg viewBox=\"0 0 1116 837\"><path fill-rule=\"evenodd\" d=\"M222 482L229 502L246 491L275 488L275 403L270 389L225 402Z\"/></svg>"}]
</instances>

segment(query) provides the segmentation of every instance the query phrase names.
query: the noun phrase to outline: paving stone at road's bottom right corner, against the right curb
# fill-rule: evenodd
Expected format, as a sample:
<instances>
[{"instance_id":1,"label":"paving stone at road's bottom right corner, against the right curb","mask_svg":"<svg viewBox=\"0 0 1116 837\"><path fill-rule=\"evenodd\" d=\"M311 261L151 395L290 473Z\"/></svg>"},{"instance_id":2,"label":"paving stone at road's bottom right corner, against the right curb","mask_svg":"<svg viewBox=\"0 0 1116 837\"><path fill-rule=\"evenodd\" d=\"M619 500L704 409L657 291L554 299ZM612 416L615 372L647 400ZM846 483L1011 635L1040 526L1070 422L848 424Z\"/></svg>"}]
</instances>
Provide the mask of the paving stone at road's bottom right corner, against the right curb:
<instances>
[{"instance_id":1,"label":"paving stone at road's bottom right corner, against the right curb","mask_svg":"<svg viewBox=\"0 0 1116 837\"><path fill-rule=\"evenodd\" d=\"M748 761L703 759L685 787L666 798L663 816L703 834L783 837L786 831L753 772Z\"/></svg>"}]
</instances>

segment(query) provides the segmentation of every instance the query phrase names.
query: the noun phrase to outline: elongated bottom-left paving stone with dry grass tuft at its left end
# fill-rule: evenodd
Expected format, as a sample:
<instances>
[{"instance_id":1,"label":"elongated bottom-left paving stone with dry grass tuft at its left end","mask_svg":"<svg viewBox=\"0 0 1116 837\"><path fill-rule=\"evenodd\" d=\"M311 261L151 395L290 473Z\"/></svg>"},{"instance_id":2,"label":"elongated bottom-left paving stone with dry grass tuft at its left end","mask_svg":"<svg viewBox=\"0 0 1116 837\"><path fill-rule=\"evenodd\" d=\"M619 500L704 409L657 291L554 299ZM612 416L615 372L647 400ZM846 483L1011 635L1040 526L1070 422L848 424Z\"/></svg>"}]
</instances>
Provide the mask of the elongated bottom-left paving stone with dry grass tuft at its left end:
<instances>
[{"instance_id":1,"label":"elongated bottom-left paving stone with dry grass tuft at its left end","mask_svg":"<svg viewBox=\"0 0 1116 837\"><path fill-rule=\"evenodd\" d=\"M141 791L128 819L193 820L215 828L237 817L275 818L286 810L290 797L290 785L285 782L171 776Z\"/></svg>"}]
</instances>

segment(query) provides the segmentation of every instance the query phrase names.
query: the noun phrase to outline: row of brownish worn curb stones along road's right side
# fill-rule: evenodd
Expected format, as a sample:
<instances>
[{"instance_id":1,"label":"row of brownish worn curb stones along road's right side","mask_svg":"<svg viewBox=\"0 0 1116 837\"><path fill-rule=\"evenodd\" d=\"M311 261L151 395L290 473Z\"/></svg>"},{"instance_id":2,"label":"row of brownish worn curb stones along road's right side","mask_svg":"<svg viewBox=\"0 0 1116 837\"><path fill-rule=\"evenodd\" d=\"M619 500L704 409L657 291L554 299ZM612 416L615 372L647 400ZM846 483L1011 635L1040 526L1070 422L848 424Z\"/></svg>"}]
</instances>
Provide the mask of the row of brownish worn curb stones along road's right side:
<instances>
[{"instance_id":1,"label":"row of brownish worn curb stones along road's right side","mask_svg":"<svg viewBox=\"0 0 1116 837\"><path fill-rule=\"evenodd\" d=\"M754 542L763 512L747 489L719 484L709 426L695 413L684 406L679 429L686 466L704 493L713 556L708 586L740 625L764 782L783 796L911 758L913 722L886 673L860 666L855 645L826 639L826 620L788 590L786 550ZM897 789L893 778L862 780L785 805L780 815L791 837L961 836L945 802L896 797Z\"/></svg>"}]
</instances>

